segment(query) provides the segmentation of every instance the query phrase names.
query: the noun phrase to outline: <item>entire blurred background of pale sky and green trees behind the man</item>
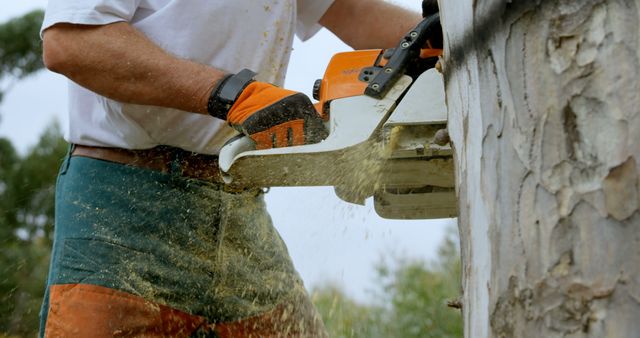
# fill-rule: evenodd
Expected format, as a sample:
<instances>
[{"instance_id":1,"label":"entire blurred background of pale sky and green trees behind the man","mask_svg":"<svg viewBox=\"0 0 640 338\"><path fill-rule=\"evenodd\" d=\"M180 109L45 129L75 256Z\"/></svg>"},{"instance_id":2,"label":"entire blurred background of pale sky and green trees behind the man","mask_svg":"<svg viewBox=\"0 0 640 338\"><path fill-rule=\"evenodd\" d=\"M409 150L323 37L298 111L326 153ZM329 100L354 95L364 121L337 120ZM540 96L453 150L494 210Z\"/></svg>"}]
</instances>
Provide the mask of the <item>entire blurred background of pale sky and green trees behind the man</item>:
<instances>
[{"instance_id":1,"label":"entire blurred background of pale sky and green trees behind the man","mask_svg":"<svg viewBox=\"0 0 640 338\"><path fill-rule=\"evenodd\" d=\"M420 11L418 0L394 1ZM0 10L0 337L33 337L44 293L53 192L67 145L66 79L42 69L46 0ZM383 29L383 24L381 29ZM349 47L321 30L296 40L285 86L311 95ZM455 219L390 221L332 188L274 188L274 224L332 337L459 337Z\"/></svg>"}]
</instances>

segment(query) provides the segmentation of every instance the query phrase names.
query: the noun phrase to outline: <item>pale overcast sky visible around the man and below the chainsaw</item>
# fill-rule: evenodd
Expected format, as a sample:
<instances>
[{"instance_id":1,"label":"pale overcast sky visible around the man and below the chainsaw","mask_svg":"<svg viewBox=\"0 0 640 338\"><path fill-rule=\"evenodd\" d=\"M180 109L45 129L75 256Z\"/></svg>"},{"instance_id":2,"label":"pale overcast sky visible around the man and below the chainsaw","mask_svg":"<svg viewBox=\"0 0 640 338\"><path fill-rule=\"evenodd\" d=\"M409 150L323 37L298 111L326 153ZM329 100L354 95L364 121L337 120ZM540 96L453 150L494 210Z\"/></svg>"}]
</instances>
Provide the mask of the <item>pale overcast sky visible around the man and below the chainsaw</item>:
<instances>
[{"instance_id":1,"label":"pale overcast sky visible around the man and below the chainsaw","mask_svg":"<svg viewBox=\"0 0 640 338\"><path fill-rule=\"evenodd\" d=\"M46 0L3 0L0 22ZM420 1L394 1L415 11ZM311 95L331 56L350 50L326 30L302 43L296 39L285 87ZM25 153L44 128L58 121L66 125L66 79L49 71L15 83L0 104L0 137L7 137ZM307 288L325 283L341 286L361 302L370 300L376 286L375 265L399 259L434 259L437 246L455 219L393 221L366 206L341 201L331 187L273 188L266 195L273 222Z\"/></svg>"}]
</instances>

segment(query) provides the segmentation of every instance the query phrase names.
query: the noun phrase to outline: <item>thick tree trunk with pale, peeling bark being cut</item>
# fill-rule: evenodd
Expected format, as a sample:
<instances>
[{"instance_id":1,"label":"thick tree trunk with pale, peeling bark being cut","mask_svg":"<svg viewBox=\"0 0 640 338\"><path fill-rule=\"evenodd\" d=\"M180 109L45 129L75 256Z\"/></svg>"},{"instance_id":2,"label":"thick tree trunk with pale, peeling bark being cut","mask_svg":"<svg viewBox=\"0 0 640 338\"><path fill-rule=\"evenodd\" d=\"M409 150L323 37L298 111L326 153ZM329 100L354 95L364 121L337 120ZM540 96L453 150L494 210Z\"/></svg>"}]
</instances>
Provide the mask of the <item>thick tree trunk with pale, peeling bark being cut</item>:
<instances>
[{"instance_id":1,"label":"thick tree trunk with pale, peeling bark being cut","mask_svg":"<svg viewBox=\"0 0 640 338\"><path fill-rule=\"evenodd\" d=\"M640 335L640 0L440 0L466 337Z\"/></svg>"}]
</instances>

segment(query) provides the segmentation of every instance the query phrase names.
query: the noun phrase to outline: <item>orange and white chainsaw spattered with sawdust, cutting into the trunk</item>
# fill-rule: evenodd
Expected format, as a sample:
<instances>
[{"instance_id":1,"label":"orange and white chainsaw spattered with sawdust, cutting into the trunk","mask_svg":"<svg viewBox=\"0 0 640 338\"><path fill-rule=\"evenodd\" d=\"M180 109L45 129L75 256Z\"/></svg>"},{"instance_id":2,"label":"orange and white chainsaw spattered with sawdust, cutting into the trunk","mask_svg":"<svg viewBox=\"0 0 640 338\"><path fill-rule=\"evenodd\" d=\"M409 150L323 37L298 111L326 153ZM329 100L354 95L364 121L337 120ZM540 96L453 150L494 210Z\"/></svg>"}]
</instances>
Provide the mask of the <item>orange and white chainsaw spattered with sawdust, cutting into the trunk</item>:
<instances>
[{"instance_id":1,"label":"orange and white chainsaw spattered with sawdust, cutting into the trunk","mask_svg":"<svg viewBox=\"0 0 640 338\"><path fill-rule=\"evenodd\" d=\"M320 143L255 150L238 136L219 155L235 187L333 186L341 199L390 219L457 215L453 152L440 135L447 110L440 49L424 48L437 15L394 49L338 53L314 84L328 137Z\"/></svg>"}]
</instances>

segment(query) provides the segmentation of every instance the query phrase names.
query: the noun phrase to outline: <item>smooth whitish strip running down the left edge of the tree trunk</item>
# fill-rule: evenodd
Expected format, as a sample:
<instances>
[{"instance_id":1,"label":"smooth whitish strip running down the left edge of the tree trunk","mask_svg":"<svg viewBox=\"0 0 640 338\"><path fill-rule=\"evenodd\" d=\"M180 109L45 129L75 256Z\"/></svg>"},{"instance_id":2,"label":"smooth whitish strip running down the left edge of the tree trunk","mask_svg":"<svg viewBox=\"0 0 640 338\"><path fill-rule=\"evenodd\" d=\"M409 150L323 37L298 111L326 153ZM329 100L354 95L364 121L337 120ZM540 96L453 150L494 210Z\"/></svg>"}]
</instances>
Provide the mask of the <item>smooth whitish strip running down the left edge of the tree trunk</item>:
<instances>
[{"instance_id":1,"label":"smooth whitish strip running down the left edge of the tree trunk","mask_svg":"<svg viewBox=\"0 0 640 338\"><path fill-rule=\"evenodd\" d=\"M470 1L448 1L441 4L442 20L447 22L445 41L448 45L462 44L468 22L473 21ZM442 8L442 7L441 7ZM447 47L448 48L448 47ZM479 111L478 72L473 65L477 62L475 52L467 54L467 65L449 79L447 101L449 104L449 135L456 146L456 181L480 186L482 168L480 155L482 145L482 116ZM446 67L446 65L445 65ZM458 186L460 186L458 184ZM483 191L459 191L459 220L461 231L468 236L461 237L461 248L468 259L464 265L463 289L465 302L475 304L473 308L463 307L465 335L487 337L489 335L489 312L472 309L489 308L489 282L491 275L491 248L489 240L489 206L484 203ZM477 305L477 307L476 307Z\"/></svg>"}]
</instances>

